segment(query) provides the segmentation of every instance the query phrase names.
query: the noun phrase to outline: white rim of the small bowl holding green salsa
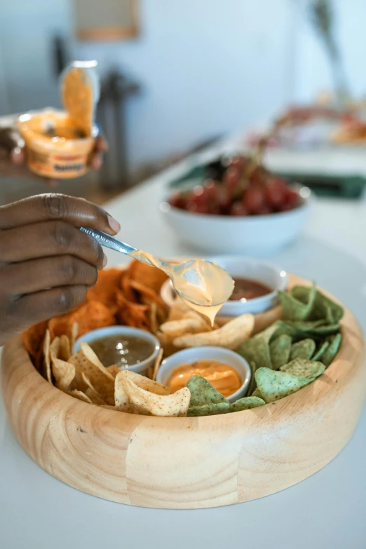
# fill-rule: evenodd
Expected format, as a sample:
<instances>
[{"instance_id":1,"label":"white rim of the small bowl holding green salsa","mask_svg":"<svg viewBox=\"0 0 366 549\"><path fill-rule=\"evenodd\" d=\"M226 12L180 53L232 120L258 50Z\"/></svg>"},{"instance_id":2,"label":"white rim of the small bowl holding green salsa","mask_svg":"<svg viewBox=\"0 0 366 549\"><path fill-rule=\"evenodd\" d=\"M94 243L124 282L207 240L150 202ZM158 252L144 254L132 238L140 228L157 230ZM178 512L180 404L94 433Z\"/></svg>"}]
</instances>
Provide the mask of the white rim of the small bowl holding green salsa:
<instances>
[{"instance_id":1,"label":"white rim of the small bowl holding green salsa","mask_svg":"<svg viewBox=\"0 0 366 549\"><path fill-rule=\"evenodd\" d=\"M92 330L91 332L84 334L76 340L73 352L76 353L76 351L79 351L81 342L90 344L91 341L95 341L95 339L114 335L129 335L141 337L142 339L146 339L146 341L150 341L154 345L154 352L151 353L148 358L142 360L141 362L138 362L135 365L130 365L126 369L131 370L132 372L137 372L137 374L146 374L147 369L154 364L156 357L158 356L160 343L153 334L145 332L145 330L139 330L139 328L132 328L129 326L107 326L105 328L99 328L98 330Z\"/></svg>"}]
</instances>

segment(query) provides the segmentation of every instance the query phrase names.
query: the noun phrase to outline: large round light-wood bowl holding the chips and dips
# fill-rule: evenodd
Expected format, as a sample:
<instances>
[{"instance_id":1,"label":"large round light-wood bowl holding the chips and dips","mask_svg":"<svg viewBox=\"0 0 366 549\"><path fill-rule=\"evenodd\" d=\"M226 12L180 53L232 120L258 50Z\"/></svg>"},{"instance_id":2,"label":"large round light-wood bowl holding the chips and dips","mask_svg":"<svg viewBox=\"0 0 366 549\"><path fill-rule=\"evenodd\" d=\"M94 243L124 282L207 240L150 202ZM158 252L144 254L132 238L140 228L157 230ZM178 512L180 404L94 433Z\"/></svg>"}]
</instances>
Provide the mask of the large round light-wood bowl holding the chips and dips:
<instances>
[{"instance_id":1,"label":"large round light-wood bowl holding the chips and dips","mask_svg":"<svg viewBox=\"0 0 366 549\"><path fill-rule=\"evenodd\" d=\"M290 284L306 283L292 277ZM76 400L36 372L22 340L4 348L8 417L25 452L93 496L155 508L207 508L292 486L346 445L366 394L365 347L346 309L336 360L270 405L200 418L124 414Z\"/></svg>"}]
</instances>

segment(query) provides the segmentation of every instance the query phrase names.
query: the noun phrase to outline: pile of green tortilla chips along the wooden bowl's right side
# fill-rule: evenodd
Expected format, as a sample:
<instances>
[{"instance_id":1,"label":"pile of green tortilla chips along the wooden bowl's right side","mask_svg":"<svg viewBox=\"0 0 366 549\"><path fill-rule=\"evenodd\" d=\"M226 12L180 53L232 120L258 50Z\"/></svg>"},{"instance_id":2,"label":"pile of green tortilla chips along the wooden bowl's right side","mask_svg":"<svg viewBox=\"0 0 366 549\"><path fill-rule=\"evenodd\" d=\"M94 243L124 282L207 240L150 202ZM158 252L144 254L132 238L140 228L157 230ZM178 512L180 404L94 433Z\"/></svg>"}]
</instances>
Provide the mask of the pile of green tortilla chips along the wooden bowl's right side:
<instances>
[{"instance_id":1,"label":"pile of green tortilla chips along the wooden bowl's right side","mask_svg":"<svg viewBox=\"0 0 366 549\"><path fill-rule=\"evenodd\" d=\"M312 287L280 292L283 319L245 341L237 351L248 360L248 394L273 402L323 374L339 351L340 305Z\"/></svg>"}]
</instances>

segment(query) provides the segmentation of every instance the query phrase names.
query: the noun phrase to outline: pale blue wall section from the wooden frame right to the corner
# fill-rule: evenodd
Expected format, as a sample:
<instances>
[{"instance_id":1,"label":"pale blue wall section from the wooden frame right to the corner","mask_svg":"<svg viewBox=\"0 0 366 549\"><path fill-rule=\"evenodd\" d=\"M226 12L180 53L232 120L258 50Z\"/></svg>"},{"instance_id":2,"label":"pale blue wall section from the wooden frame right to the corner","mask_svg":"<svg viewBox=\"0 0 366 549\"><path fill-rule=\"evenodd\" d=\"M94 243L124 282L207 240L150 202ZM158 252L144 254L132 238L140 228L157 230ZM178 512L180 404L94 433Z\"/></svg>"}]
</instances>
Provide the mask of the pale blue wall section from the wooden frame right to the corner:
<instances>
[{"instance_id":1,"label":"pale blue wall section from the wooden frame right to the corner","mask_svg":"<svg viewBox=\"0 0 366 549\"><path fill-rule=\"evenodd\" d=\"M128 105L133 166L272 116L292 91L291 0L142 0L142 35L79 44L143 86Z\"/></svg>"}]
</instances>

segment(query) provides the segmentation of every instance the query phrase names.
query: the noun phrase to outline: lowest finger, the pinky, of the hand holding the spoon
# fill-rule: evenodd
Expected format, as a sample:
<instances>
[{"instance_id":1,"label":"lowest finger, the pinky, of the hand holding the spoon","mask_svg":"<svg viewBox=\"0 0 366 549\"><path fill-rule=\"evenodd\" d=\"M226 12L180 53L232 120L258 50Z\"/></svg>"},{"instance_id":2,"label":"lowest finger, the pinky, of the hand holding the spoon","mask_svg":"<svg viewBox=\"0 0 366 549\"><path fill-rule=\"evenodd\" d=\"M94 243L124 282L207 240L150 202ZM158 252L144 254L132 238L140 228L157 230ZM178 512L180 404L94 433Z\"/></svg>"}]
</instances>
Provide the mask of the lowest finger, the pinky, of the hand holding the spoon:
<instances>
[{"instance_id":1,"label":"lowest finger, the pinky, of the hand holding the spoon","mask_svg":"<svg viewBox=\"0 0 366 549\"><path fill-rule=\"evenodd\" d=\"M85 285L65 286L21 297L13 305L13 314L24 319L18 331L71 311L85 301L87 291Z\"/></svg>"}]
</instances>

